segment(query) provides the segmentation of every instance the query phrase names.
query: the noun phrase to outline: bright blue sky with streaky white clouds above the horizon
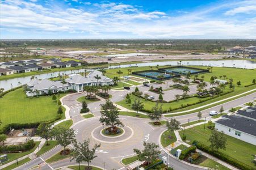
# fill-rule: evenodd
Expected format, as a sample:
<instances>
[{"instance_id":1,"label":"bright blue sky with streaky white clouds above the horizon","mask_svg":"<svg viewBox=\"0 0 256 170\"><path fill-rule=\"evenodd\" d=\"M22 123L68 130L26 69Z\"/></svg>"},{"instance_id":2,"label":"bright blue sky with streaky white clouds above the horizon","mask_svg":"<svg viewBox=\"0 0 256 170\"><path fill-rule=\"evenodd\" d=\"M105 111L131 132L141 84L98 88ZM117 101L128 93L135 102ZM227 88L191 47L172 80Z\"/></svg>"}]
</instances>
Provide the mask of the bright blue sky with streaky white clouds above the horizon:
<instances>
[{"instance_id":1,"label":"bright blue sky with streaky white clouds above the horizon","mask_svg":"<svg viewBox=\"0 0 256 170\"><path fill-rule=\"evenodd\" d=\"M0 39L256 39L256 0L0 2Z\"/></svg>"}]
</instances>

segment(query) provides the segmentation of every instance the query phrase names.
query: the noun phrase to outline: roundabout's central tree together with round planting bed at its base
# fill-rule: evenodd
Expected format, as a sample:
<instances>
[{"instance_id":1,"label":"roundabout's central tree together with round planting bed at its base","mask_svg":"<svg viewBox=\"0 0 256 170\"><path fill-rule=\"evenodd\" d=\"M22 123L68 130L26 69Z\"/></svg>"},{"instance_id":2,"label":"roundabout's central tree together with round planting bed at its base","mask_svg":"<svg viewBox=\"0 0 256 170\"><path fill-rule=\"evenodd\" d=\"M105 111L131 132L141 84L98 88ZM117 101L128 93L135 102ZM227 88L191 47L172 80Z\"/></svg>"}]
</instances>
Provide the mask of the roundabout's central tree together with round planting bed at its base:
<instances>
[{"instance_id":1,"label":"roundabout's central tree together with round planting bed at its base","mask_svg":"<svg viewBox=\"0 0 256 170\"><path fill-rule=\"evenodd\" d=\"M101 117L99 119L102 125L110 126L104 129L104 134L107 134L111 131L111 135L116 135L121 133L121 129L117 126L124 126L124 124L120 121L119 112L115 105L110 101L107 100L105 104L101 106Z\"/></svg>"}]
</instances>

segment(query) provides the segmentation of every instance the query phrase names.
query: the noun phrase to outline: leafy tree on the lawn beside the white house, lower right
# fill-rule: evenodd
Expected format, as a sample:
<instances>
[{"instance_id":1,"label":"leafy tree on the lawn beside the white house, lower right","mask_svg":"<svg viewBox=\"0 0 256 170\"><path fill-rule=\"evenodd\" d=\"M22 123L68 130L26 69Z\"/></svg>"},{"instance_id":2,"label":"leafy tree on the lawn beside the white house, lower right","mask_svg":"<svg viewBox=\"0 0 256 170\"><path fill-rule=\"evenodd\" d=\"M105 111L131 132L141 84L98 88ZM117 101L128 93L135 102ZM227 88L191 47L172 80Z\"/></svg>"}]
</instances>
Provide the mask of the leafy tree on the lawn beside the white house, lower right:
<instances>
[{"instance_id":1,"label":"leafy tree on the lawn beside the white house, lower right","mask_svg":"<svg viewBox=\"0 0 256 170\"><path fill-rule=\"evenodd\" d=\"M208 142L211 143L209 147L212 150L226 149L226 137L223 131L212 130Z\"/></svg>"}]
</instances>

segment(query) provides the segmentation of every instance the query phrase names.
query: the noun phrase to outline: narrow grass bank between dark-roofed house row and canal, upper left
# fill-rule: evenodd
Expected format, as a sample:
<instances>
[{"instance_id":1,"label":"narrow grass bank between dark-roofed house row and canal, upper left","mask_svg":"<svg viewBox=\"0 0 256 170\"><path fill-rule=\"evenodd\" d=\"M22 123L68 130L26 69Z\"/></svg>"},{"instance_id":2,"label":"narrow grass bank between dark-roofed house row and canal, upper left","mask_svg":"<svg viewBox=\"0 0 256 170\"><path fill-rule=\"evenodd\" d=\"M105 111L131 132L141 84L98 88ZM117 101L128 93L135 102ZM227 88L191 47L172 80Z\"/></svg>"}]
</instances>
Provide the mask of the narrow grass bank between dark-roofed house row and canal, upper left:
<instances>
[{"instance_id":1,"label":"narrow grass bank between dark-roofed house row and canal, upper left","mask_svg":"<svg viewBox=\"0 0 256 170\"><path fill-rule=\"evenodd\" d=\"M53 72L57 72L57 71L79 70L82 68L83 68L83 66L56 68L56 69L49 69L49 70L42 70L42 71L31 71L28 73L0 76L0 80L7 80L7 79L19 78L19 77L24 77L24 76L32 76L32 75L38 75L38 74L45 74L45 73L53 73Z\"/></svg>"}]
</instances>

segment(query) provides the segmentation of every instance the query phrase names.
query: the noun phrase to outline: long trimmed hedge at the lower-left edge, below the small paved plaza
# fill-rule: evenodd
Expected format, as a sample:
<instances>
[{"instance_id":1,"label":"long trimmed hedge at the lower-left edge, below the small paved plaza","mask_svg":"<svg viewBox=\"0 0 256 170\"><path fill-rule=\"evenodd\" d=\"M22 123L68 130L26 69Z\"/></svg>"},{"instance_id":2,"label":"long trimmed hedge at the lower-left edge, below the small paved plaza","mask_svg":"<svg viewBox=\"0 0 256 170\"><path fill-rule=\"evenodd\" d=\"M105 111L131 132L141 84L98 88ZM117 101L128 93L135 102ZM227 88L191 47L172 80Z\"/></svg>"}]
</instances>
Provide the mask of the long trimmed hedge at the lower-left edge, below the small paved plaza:
<instances>
[{"instance_id":1,"label":"long trimmed hedge at the lower-left edge, below the small paved plaza","mask_svg":"<svg viewBox=\"0 0 256 170\"><path fill-rule=\"evenodd\" d=\"M33 140L28 141L27 143L24 143L23 145L5 145L0 146L0 152L20 152L20 151L28 151L31 150L35 146L35 143Z\"/></svg>"}]
</instances>

